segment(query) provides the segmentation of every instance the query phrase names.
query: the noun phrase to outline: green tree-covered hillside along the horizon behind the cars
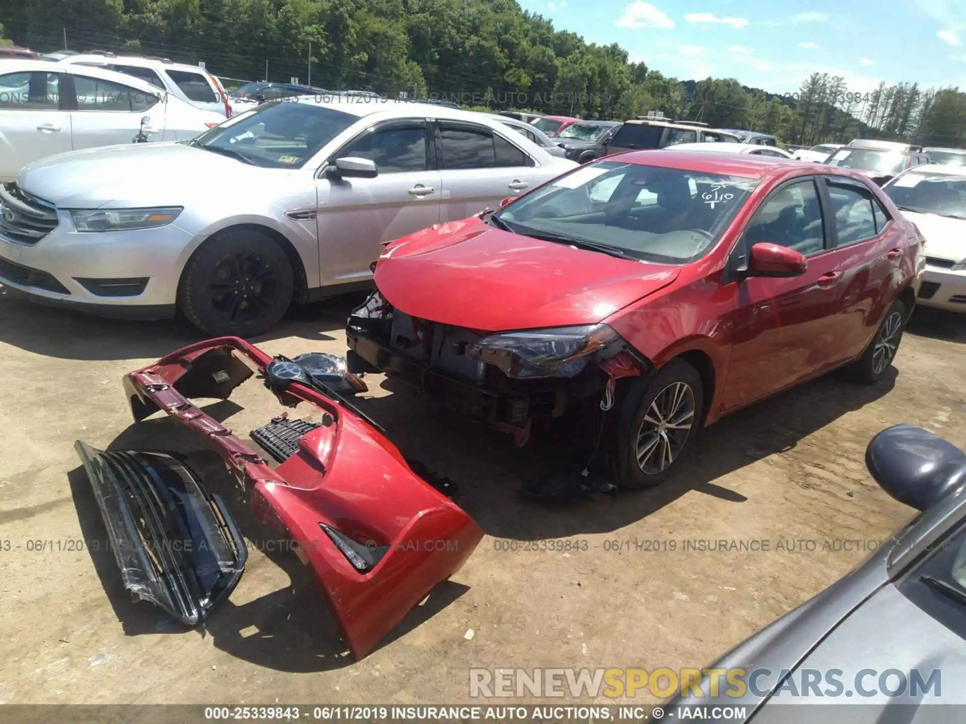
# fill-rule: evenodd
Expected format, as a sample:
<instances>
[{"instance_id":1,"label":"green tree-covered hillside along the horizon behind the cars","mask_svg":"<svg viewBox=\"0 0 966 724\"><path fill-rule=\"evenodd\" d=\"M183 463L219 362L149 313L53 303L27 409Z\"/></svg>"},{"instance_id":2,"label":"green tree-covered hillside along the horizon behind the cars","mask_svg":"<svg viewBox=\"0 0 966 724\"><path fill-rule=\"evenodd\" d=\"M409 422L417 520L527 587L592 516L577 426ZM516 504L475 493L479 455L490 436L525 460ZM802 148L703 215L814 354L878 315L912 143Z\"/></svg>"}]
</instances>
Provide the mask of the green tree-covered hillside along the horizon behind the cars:
<instances>
[{"instance_id":1,"label":"green tree-covered hillside along the horizon behind the cars","mask_svg":"<svg viewBox=\"0 0 966 724\"><path fill-rule=\"evenodd\" d=\"M884 84L851 94L813 74L776 96L733 78L684 82L632 63L616 43L584 42L516 0L0 0L20 45L103 49L204 62L221 76L332 90L453 97L627 119L660 110L710 125L753 128L786 143L856 136L966 145L966 95ZM646 57L646 51L644 53Z\"/></svg>"}]
</instances>

